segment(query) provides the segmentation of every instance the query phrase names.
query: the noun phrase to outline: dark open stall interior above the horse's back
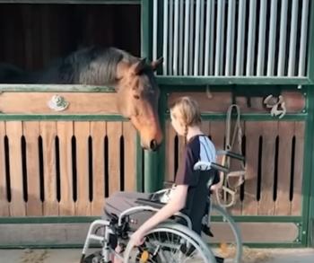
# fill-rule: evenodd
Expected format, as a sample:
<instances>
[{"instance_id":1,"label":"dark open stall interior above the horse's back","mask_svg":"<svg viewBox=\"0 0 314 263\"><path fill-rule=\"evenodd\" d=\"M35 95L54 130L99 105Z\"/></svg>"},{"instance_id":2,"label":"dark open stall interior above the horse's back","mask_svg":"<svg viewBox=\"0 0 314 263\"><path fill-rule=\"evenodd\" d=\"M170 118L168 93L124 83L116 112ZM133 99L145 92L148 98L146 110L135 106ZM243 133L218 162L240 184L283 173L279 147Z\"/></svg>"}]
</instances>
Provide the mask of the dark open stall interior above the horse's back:
<instances>
[{"instance_id":1,"label":"dark open stall interior above the horse's back","mask_svg":"<svg viewBox=\"0 0 314 263\"><path fill-rule=\"evenodd\" d=\"M0 4L0 63L39 70L77 48L140 55L139 4Z\"/></svg>"}]
</instances>

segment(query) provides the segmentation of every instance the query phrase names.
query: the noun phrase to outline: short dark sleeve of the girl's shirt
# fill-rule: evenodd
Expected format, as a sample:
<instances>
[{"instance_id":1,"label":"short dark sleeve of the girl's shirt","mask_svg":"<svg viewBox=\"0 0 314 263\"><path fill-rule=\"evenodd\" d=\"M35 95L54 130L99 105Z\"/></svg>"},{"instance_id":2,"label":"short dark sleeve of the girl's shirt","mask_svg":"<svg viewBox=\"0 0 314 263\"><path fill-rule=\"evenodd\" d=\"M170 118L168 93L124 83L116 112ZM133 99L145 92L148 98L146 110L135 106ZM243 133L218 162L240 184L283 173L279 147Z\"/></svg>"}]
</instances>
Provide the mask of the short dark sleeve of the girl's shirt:
<instances>
[{"instance_id":1,"label":"short dark sleeve of the girl's shirt","mask_svg":"<svg viewBox=\"0 0 314 263\"><path fill-rule=\"evenodd\" d=\"M194 171L194 164L197 162L195 154L191 148L187 148L183 159L180 162L175 183L177 185L188 185L196 186L198 181L198 176L196 176L197 171Z\"/></svg>"}]
</instances>

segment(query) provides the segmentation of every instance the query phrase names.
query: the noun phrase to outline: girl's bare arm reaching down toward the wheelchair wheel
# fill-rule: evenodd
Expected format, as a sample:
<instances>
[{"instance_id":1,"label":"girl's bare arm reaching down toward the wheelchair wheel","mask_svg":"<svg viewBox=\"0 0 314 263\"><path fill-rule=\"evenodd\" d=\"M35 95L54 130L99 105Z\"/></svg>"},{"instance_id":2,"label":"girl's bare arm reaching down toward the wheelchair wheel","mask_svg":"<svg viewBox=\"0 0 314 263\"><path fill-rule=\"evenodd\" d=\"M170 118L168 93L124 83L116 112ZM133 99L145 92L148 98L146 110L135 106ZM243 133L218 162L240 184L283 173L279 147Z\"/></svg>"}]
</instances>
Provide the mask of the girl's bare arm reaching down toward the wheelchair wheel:
<instances>
[{"instance_id":1,"label":"girl's bare arm reaching down toward the wheelchair wheel","mask_svg":"<svg viewBox=\"0 0 314 263\"><path fill-rule=\"evenodd\" d=\"M186 205L188 194L188 185L178 185L171 193L170 201L167 205L163 206L156 214L150 219L145 221L144 224L136 232L144 233L150 231L154 226L168 219L171 215L179 212ZM135 232L135 233L136 233Z\"/></svg>"}]
</instances>

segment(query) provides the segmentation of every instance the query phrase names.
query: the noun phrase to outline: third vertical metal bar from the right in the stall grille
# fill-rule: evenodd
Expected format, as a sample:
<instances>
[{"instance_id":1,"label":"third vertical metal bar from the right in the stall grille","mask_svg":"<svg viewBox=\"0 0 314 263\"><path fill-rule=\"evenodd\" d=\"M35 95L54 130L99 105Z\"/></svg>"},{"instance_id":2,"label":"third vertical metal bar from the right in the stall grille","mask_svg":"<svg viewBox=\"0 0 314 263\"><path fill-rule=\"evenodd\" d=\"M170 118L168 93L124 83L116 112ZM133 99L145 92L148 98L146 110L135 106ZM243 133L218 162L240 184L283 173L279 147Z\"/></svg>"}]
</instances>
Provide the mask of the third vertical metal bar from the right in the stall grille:
<instances>
[{"instance_id":1,"label":"third vertical metal bar from the right in the stall grille","mask_svg":"<svg viewBox=\"0 0 314 263\"><path fill-rule=\"evenodd\" d=\"M285 63L285 46L287 35L287 12L288 0L282 0L282 10L280 13L280 35L279 35L279 57L278 57L278 72L277 75L284 75Z\"/></svg>"}]
</instances>

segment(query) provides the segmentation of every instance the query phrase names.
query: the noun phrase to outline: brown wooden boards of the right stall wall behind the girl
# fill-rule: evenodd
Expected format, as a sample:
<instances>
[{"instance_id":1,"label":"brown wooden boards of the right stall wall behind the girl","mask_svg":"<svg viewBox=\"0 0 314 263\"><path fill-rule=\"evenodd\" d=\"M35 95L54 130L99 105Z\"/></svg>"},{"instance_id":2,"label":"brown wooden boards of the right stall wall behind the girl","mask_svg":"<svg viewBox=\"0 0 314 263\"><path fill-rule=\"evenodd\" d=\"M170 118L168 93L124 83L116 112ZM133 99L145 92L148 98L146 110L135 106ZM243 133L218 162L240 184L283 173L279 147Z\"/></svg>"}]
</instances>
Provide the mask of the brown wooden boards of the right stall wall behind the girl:
<instances>
[{"instance_id":1,"label":"brown wooden boards of the right stall wall behind the girl","mask_svg":"<svg viewBox=\"0 0 314 263\"><path fill-rule=\"evenodd\" d=\"M283 92L287 112L297 113L305 106L300 92ZM231 93L213 92L208 98L204 92L174 92L169 103L181 95L191 95L200 104L204 114L225 113L231 105ZM263 98L236 98L242 113L266 113ZM268 109L269 111L269 109ZM209 117L210 118L210 117ZM232 215L300 215L302 206L303 152L305 121L242 120L243 153L246 156L246 180L239 189ZM202 123L205 134L212 138L217 149L223 149L225 120L206 119ZM184 142L170 125L166 124L167 180L174 180L179 153ZM235 149L235 151L237 151ZM235 167L238 163L231 163Z\"/></svg>"}]
</instances>

